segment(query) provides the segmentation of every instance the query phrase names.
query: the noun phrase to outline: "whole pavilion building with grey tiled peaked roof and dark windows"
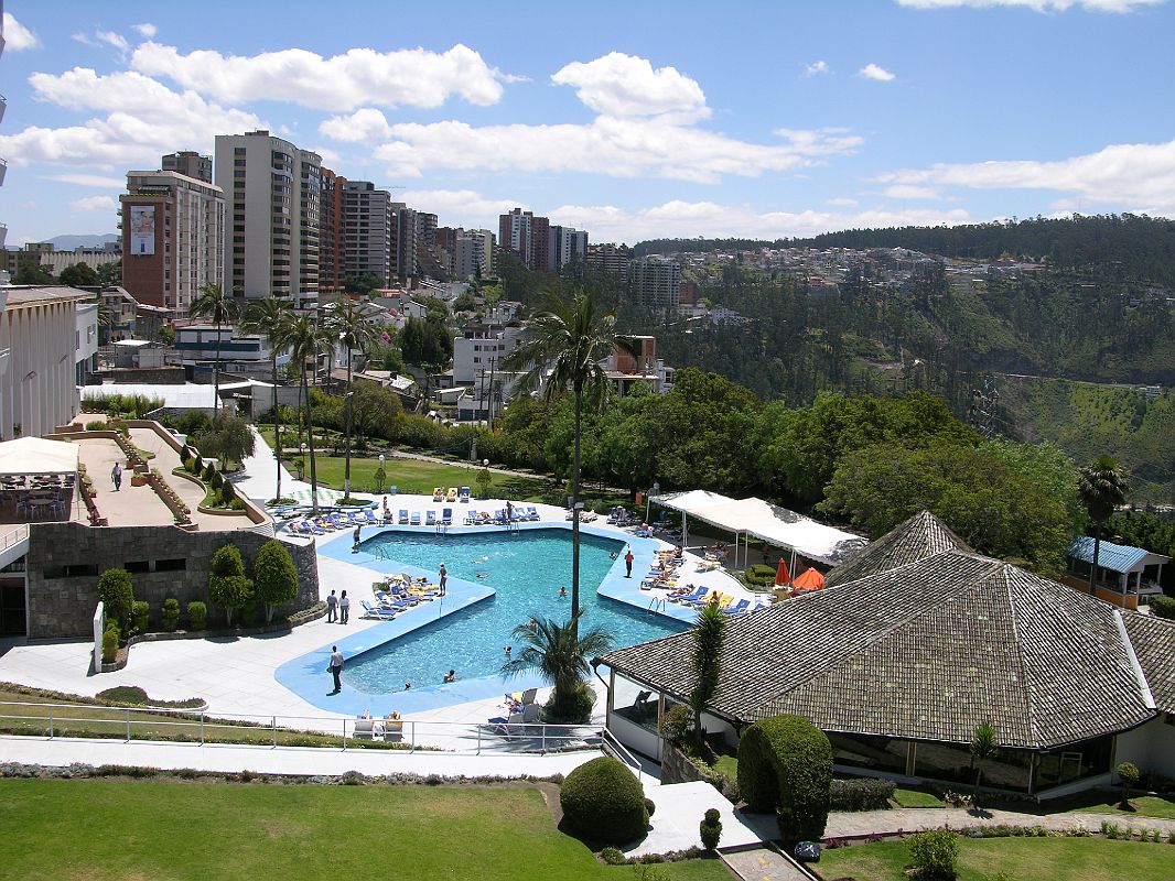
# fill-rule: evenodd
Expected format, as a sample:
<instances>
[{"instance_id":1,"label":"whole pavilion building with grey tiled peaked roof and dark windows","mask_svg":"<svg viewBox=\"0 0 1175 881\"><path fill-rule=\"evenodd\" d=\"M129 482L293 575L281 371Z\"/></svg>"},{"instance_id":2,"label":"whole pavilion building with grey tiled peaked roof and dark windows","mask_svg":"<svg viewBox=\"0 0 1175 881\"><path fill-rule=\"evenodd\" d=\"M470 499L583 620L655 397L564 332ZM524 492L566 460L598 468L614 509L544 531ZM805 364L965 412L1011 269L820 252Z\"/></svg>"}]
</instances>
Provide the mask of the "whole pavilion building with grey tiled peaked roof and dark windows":
<instances>
[{"instance_id":1,"label":"whole pavilion building with grey tiled peaked roof and dark windows","mask_svg":"<svg viewBox=\"0 0 1175 881\"><path fill-rule=\"evenodd\" d=\"M658 722L693 687L689 632L597 658L607 725L654 759ZM991 724L992 786L1039 798L1107 784L1112 768L1175 775L1175 623L973 552L928 512L870 544L828 587L727 628L707 731L734 742L797 713L828 734L840 773L974 779Z\"/></svg>"}]
</instances>

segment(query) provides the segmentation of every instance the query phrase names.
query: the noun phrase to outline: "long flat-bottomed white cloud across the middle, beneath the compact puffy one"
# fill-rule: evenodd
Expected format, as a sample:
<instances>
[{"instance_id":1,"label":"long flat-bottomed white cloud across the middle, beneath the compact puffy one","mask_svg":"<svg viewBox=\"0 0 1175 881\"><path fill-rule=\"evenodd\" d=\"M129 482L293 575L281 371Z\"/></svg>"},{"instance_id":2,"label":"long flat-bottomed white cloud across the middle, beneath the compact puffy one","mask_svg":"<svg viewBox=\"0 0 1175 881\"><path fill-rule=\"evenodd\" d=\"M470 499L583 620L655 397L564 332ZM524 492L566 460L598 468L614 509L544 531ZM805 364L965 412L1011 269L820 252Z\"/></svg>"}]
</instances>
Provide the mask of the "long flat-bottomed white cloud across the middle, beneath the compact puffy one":
<instances>
[{"instance_id":1,"label":"long flat-bottomed white cloud across the middle, beneath the compact puffy one","mask_svg":"<svg viewBox=\"0 0 1175 881\"><path fill-rule=\"evenodd\" d=\"M387 140L375 157L388 173L418 177L432 168L457 170L580 172L612 177L666 177L716 183L724 175L754 177L810 166L824 156L852 153L861 143L844 129L777 129L781 143L748 143L682 126L672 120L598 116L588 125L485 126L450 120L389 125L378 110L327 120L327 136Z\"/></svg>"}]
</instances>

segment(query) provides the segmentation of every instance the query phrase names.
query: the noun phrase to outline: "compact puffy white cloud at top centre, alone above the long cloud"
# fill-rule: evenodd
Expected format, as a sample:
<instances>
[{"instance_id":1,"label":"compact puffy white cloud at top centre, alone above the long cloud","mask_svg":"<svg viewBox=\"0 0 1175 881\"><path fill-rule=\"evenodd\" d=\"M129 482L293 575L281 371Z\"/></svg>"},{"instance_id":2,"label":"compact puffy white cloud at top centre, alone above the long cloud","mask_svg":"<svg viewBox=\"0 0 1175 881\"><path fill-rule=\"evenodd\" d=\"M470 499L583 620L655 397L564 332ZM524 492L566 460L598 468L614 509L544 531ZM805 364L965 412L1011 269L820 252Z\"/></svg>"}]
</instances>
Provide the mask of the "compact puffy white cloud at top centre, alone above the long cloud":
<instances>
[{"instance_id":1,"label":"compact puffy white cloud at top centre, alone above the long cloud","mask_svg":"<svg viewBox=\"0 0 1175 881\"><path fill-rule=\"evenodd\" d=\"M710 116L706 96L696 80L673 67L653 69L647 59L611 52L589 61L573 61L551 76L571 86L588 107L606 116L672 116L692 122Z\"/></svg>"}]
</instances>

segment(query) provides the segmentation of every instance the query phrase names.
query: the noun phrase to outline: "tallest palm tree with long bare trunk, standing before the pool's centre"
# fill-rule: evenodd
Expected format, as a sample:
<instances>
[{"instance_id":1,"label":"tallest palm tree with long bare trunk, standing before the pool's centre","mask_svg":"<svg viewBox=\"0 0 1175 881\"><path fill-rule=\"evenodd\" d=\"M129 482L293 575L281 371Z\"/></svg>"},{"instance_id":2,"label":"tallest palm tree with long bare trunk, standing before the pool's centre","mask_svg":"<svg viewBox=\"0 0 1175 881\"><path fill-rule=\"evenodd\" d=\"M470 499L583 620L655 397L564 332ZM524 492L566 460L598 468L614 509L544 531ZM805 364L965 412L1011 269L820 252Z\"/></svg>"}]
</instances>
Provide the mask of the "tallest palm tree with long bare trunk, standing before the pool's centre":
<instances>
[{"instance_id":1,"label":"tallest palm tree with long bare trunk, standing before the pool's centre","mask_svg":"<svg viewBox=\"0 0 1175 881\"><path fill-rule=\"evenodd\" d=\"M533 315L518 336L518 347L501 361L504 372L524 371L519 395L538 388L550 401L569 389L576 398L575 455L571 466L571 626L579 621L579 438L584 396L598 410L607 392L607 375L599 362L617 348L639 357L634 341L616 330L616 315L600 312L590 291L570 303L550 297L550 309ZM548 376L548 371L550 375ZM543 381L546 384L543 385Z\"/></svg>"}]
</instances>

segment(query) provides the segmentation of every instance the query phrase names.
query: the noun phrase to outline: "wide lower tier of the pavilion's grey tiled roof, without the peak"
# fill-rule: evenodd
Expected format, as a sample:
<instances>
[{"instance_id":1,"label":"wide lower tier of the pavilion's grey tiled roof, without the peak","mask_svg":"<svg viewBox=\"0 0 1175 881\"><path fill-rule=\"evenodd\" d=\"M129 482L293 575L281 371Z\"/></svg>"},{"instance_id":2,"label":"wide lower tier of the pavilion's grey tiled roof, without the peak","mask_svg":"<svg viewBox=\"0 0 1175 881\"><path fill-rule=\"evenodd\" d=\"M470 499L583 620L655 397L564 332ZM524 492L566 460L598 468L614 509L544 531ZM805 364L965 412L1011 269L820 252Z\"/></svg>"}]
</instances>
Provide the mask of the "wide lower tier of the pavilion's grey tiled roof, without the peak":
<instances>
[{"instance_id":1,"label":"wide lower tier of the pavilion's grey tiled roof, without the peak","mask_svg":"<svg viewBox=\"0 0 1175 881\"><path fill-rule=\"evenodd\" d=\"M685 698L690 639L600 661ZM1028 748L1154 715L1112 606L956 550L732 620L711 706L744 722L801 713L825 731L960 744L987 721Z\"/></svg>"}]
</instances>

